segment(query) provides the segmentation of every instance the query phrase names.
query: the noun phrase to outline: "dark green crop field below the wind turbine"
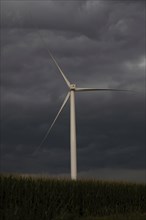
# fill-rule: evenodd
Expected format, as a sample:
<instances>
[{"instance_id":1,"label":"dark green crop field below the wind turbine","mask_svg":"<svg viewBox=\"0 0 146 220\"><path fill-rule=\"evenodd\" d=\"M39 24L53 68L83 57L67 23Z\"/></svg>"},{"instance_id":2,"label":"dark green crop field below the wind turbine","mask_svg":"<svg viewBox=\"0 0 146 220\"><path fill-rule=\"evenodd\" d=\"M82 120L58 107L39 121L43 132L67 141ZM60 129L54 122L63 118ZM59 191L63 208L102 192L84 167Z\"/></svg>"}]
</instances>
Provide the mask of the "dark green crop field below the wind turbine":
<instances>
[{"instance_id":1,"label":"dark green crop field below the wind turbine","mask_svg":"<svg viewBox=\"0 0 146 220\"><path fill-rule=\"evenodd\" d=\"M0 176L3 220L144 220L145 213L145 184Z\"/></svg>"}]
</instances>

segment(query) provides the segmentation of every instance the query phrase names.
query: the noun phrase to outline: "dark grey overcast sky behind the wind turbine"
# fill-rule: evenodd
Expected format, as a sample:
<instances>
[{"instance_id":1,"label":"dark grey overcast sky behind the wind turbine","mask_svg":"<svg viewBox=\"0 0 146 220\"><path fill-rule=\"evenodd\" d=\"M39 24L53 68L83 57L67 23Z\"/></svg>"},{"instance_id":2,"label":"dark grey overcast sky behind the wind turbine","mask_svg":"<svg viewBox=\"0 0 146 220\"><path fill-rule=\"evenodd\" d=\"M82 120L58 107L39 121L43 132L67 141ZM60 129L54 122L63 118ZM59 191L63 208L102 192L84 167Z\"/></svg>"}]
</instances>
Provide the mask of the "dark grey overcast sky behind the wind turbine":
<instances>
[{"instance_id":1,"label":"dark grey overcast sky behind the wind turbine","mask_svg":"<svg viewBox=\"0 0 146 220\"><path fill-rule=\"evenodd\" d=\"M145 1L1 1L1 172L69 175L71 83L79 177L144 181Z\"/></svg>"}]
</instances>

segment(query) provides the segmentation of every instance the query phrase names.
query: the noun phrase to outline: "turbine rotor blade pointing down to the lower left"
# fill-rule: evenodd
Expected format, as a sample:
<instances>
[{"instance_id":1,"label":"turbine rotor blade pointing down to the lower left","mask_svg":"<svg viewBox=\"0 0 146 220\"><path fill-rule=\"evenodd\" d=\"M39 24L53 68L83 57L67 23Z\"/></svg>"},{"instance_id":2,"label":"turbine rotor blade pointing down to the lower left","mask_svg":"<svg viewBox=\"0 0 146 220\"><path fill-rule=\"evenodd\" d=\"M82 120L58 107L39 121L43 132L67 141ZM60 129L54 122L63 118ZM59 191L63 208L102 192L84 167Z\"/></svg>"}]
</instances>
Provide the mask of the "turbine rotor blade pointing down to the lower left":
<instances>
[{"instance_id":1,"label":"turbine rotor blade pointing down to the lower left","mask_svg":"<svg viewBox=\"0 0 146 220\"><path fill-rule=\"evenodd\" d=\"M44 136L42 142L40 143L40 145L37 147L37 149L35 150L35 152L34 152L33 154L35 154L36 152L38 152L39 149L41 148L41 146L43 145L43 143L45 142L47 136L50 134L51 129L53 128L53 125L55 124L55 122L56 122L58 116L60 115L62 109L64 108L65 104L67 103L69 97L70 97L70 92L68 92L67 96L65 97L64 102L63 102L63 104L61 105L61 108L59 109L59 111L58 111L58 113L57 113L57 115L56 115L54 121L52 122L52 124L51 124L50 128L47 130L47 132L46 132L46 134L45 134L45 136Z\"/></svg>"}]
</instances>

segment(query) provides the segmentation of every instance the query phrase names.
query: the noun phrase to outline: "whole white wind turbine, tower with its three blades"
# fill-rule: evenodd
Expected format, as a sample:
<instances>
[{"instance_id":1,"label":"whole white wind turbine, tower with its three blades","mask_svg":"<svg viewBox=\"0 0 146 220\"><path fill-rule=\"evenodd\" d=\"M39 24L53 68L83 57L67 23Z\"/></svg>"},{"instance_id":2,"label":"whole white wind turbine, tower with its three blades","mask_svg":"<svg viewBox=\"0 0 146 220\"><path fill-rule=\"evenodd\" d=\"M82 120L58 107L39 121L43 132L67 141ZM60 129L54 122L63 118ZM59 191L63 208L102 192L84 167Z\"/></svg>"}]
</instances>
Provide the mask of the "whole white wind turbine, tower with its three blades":
<instances>
[{"instance_id":1,"label":"whole white wind turbine, tower with its three blades","mask_svg":"<svg viewBox=\"0 0 146 220\"><path fill-rule=\"evenodd\" d=\"M121 90L121 89L109 89L109 88L78 88L75 84L71 84L69 80L66 78L65 74L61 70L60 66L58 65L57 61L49 51L49 54L54 61L56 67L58 68L59 72L61 73L62 77L64 78L68 88L69 92L67 96L64 99L64 102L59 109L59 112L57 113L53 123L51 124L50 128L48 129L45 137L43 138L41 144L39 145L38 149L41 147L41 145L44 143L45 139L47 138L48 134L50 133L53 125L55 124L58 116L60 115L62 109L64 108L65 104L67 103L68 99L70 98L70 158L71 158L71 179L76 180L77 179L77 143L76 143L76 112L75 112L75 93L78 92L93 92L93 91L127 91L127 90Z\"/></svg>"}]
</instances>

